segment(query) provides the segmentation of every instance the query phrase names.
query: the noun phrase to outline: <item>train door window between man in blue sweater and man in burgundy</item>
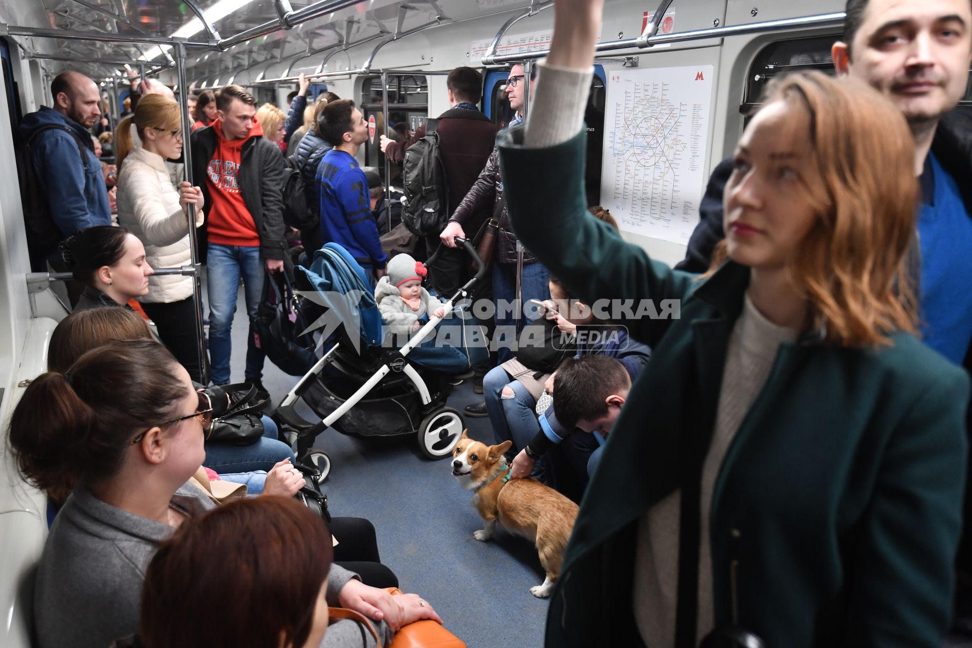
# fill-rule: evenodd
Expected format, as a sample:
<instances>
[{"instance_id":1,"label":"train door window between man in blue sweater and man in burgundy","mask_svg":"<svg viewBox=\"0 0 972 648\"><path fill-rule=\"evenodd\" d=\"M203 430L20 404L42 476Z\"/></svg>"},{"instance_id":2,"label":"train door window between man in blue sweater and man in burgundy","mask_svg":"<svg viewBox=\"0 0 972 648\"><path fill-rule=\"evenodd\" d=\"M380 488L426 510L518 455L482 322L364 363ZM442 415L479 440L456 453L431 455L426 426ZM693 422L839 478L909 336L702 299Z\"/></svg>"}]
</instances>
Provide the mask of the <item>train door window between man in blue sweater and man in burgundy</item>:
<instances>
[{"instance_id":1,"label":"train door window between man in blue sweater and man in burgundy","mask_svg":"<svg viewBox=\"0 0 972 648\"><path fill-rule=\"evenodd\" d=\"M429 83L423 75L392 75L388 88L382 88L381 77L364 80L362 100L359 104L364 119L374 117L374 138L364 143L364 165L378 169L382 182L385 179L385 155L379 142L385 133L384 91L388 91L389 137L393 140L408 139L418 126L429 117ZM391 165L391 185L401 187L401 167Z\"/></svg>"}]
</instances>

